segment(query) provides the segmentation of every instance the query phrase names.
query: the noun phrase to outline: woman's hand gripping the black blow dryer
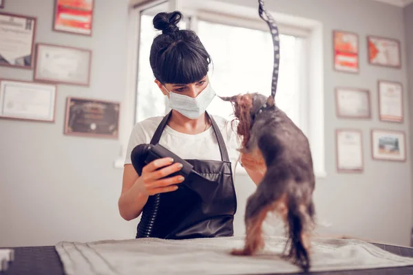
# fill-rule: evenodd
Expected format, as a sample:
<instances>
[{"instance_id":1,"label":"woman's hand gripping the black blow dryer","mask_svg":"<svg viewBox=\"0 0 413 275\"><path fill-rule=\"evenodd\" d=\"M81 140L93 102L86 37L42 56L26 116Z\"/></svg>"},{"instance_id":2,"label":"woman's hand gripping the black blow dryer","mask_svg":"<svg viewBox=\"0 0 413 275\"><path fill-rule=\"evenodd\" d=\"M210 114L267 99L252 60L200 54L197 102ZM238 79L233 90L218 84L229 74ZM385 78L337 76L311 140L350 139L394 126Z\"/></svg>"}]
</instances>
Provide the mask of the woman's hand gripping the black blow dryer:
<instances>
[{"instance_id":1,"label":"woman's hand gripping the black blow dryer","mask_svg":"<svg viewBox=\"0 0 413 275\"><path fill-rule=\"evenodd\" d=\"M173 163L170 157L155 159L142 168L142 175L137 179L136 184L142 188L145 195L156 195L158 193L172 192L178 189L176 184L184 181L181 175L167 177L182 168L182 164ZM159 170L158 170L159 169ZM164 178L166 177L166 178Z\"/></svg>"}]
</instances>

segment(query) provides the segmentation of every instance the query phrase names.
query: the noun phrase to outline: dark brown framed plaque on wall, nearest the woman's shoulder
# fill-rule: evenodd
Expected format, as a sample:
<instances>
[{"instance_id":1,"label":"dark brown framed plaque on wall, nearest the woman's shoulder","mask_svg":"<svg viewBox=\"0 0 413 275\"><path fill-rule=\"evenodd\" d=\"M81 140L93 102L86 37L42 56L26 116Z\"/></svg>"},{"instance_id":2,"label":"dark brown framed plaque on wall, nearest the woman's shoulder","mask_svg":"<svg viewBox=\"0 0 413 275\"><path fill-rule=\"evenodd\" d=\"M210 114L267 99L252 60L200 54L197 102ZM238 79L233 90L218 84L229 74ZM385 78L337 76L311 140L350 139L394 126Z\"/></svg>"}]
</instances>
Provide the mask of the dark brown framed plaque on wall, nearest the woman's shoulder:
<instances>
[{"instance_id":1,"label":"dark brown framed plaque on wall, nearest the woman's shoulder","mask_svg":"<svg viewBox=\"0 0 413 275\"><path fill-rule=\"evenodd\" d=\"M118 139L120 103L87 98L67 98L66 135Z\"/></svg>"}]
</instances>

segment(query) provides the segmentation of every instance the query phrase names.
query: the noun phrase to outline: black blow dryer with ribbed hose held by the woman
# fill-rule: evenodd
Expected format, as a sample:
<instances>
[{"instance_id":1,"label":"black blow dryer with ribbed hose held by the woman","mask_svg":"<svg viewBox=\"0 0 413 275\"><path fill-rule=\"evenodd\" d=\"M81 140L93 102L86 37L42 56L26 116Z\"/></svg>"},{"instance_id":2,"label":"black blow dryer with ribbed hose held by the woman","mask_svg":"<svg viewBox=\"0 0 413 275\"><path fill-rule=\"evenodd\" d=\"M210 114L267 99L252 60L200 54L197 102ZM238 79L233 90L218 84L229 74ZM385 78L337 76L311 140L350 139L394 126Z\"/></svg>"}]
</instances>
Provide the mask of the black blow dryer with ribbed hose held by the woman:
<instances>
[{"instance_id":1,"label":"black blow dryer with ribbed hose held by the woman","mask_svg":"<svg viewBox=\"0 0 413 275\"><path fill-rule=\"evenodd\" d=\"M136 173L139 176L142 175L142 168L152 162L155 159L160 159L163 157L172 157L173 163L180 163L183 167L167 177L174 177L176 175L182 175L184 181L178 184L178 188L189 188L204 202L209 202L213 198L218 183L215 181L210 181L202 177L199 173L193 170L193 166L178 157L178 155L172 153L167 148L160 144L140 144L136 146L131 152L131 161L134 166ZM137 238L151 237L151 232L153 231L153 226L156 220L156 215L158 213L160 203L160 194L149 196L147 203L142 211L142 217L138 225L138 232L136 234Z\"/></svg>"}]
</instances>

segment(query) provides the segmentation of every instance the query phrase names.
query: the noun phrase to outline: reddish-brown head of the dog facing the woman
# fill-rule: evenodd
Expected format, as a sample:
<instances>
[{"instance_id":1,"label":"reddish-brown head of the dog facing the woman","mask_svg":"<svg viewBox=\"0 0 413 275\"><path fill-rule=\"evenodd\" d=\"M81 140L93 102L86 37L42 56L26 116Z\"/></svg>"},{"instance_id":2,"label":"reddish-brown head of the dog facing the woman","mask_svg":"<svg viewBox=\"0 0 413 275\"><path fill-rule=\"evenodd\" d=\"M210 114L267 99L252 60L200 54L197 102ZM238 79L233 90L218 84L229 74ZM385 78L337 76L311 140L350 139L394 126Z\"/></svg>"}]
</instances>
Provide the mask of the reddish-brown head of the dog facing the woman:
<instances>
[{"instance_id":1,"label":"reddish-brown head of the dog facing the woman","mask_svg":"<svg viewBox=\"0 0 413 275\"><path fill-rule=\"evenodd\" d=\"M271 96L267 97L258 93L220 98L233 104L235 118L239 121L237 134L242 137L242 146L244 147L250 137L250 130L254 124L254 115L257 114L264 104L273 106L274 100Z\"/></svg>"}]
</instances>

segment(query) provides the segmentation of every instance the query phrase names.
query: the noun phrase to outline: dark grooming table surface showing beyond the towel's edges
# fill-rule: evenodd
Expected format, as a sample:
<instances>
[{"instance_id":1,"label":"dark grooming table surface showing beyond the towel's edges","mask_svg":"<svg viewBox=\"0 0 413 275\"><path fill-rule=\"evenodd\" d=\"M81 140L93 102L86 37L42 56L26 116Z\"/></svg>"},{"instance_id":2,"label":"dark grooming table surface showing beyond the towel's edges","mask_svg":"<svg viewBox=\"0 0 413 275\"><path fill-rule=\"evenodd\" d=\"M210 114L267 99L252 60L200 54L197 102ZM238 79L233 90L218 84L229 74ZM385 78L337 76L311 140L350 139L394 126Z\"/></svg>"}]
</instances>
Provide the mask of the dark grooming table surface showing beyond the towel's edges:
<instances>
[{"instance_id":1,"label":"dark grooming table surface showing beyond the towel's edges","mask_svg":"<svg viewBox=\"0 0 413 275\"><path fill-rule=\"evenodd\" d=\"M404 248L394 245L383 245L379 243L372 243L377 247L391 252L399 256L413 257L413 248ZM64 275L63 265L56 252L54 246L40 246L40 247L17 247L14 249L14 261L10 263L10 267L6 272L0 272L1 275ZM213 264L213 263L212 263ZM297 273L295 273L297 274ZM310 274L413 274L413 266L407 267L392 267L379 268L370 270L354 270L341 272L313 272Z\"/></svg>"}]
</instances>

